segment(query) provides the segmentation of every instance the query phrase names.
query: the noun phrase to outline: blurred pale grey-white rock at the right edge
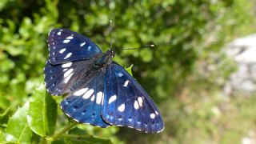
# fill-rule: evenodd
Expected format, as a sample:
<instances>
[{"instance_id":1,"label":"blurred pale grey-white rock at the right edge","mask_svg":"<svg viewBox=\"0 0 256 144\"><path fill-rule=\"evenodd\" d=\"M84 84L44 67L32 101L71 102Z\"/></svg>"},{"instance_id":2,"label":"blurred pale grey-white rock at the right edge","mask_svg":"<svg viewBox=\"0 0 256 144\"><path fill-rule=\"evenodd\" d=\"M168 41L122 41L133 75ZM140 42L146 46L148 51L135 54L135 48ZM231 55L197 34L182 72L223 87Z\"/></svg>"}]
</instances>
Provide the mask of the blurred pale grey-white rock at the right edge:
<instances>
[{"instance_id":1,"label":"blurred pale grey-white rock at the right edge","mask_svg":"<svg viewBox=\"0 0 256 144\"><path fill-rule=\"evenodd\" d=\"M234 58L238 71L230 75L224 92L227 95L250 96L256 91L256 34L238 38L226 47L226 54Z\"/></svg>"}]
</instances>

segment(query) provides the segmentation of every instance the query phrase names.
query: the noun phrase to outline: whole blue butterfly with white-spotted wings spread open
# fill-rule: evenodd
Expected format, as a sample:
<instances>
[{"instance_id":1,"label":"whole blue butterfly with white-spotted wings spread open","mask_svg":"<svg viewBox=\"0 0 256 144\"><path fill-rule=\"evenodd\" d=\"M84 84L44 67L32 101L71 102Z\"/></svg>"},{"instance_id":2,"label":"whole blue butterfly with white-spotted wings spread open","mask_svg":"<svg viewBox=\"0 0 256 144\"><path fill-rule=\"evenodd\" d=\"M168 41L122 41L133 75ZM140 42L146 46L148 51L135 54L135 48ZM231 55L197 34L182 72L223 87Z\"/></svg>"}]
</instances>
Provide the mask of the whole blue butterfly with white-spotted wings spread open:
<instances>
[{"instance_id":1,"label":"whole blue butterfly with white-spotted wings spread open","mask_svg":"<svg viewBox=\"0 0 256 144\"><path fill-rule=\"evenodd\" d=\"M127 126L159 133L164 122L146 90L106 53L71 30L53 29L48 36L49 58L44 67L46 90L66 94L61 109L76 122L102 128Z\"/></svg>"}]
</instances>

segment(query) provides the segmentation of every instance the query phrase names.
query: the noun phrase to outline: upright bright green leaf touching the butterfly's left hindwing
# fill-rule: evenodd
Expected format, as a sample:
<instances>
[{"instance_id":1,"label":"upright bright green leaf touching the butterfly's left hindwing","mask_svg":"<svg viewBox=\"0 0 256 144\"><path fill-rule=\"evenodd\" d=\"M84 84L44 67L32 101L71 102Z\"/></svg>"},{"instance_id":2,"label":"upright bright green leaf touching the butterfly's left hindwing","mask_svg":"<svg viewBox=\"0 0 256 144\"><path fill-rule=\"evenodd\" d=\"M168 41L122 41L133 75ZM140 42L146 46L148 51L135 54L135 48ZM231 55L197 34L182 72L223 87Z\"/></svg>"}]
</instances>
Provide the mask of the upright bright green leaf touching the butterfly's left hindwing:
<instances>
[{"instance_id":1,"label":"upright bright green leaf touching the butterfly's left hindwing","mask_svg":"<svg viewBox=\"0 0 256 144\"><path fill-rule=\"evenodd\" d=\"M30 129L40 136L54 134L57 118L57 104L41 84L32 98L27 120Z\"/></svg>"}]
</instances>

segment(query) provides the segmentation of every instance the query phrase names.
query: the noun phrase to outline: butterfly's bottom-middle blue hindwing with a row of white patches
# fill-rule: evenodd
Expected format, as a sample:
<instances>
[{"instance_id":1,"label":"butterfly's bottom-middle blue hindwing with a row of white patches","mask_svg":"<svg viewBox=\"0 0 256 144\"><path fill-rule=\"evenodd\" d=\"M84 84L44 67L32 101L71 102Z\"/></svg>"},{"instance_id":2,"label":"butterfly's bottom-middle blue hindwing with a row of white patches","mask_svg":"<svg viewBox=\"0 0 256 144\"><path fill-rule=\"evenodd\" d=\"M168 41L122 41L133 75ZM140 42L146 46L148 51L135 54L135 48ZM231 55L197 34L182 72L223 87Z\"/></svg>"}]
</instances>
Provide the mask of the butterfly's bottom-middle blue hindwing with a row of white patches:
<instances>
[{"instance_id":1,"label":"butterfly's bottom-middle blue hindwing with a row of white patches","mask_svg":"<svg viewBox=\"0 0 256 144\"><path fill-rule=\"evenodd\" d=\"M86 83L71 91L61 102L62 111L76 122L93 126L111 126L102 119L104 71L97 70Z\"/></svg>"}]
</instances>

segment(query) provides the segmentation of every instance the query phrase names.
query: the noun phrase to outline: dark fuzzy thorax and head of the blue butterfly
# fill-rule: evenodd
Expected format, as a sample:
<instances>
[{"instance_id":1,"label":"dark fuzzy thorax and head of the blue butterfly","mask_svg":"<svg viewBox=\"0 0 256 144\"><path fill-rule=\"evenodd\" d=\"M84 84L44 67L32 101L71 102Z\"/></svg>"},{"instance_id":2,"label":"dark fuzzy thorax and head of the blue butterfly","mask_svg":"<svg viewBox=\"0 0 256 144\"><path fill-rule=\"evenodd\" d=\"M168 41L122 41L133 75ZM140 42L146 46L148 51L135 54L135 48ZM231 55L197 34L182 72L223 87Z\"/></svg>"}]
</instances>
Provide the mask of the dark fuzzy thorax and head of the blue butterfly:
<instances>
[{"instance_id":1,"label":"dark fuzzy thorax and head of the blue butterfly","mask_svg":"<svg viewBox=\"0 0 256 144\"><path fill-rule=\"evenodd\" d=\"M93 63L93 68L98 70L102 67L110 65L114 58L114 50L107 50L106 53L101 54Z\"/></svg>"}]
</instances>

